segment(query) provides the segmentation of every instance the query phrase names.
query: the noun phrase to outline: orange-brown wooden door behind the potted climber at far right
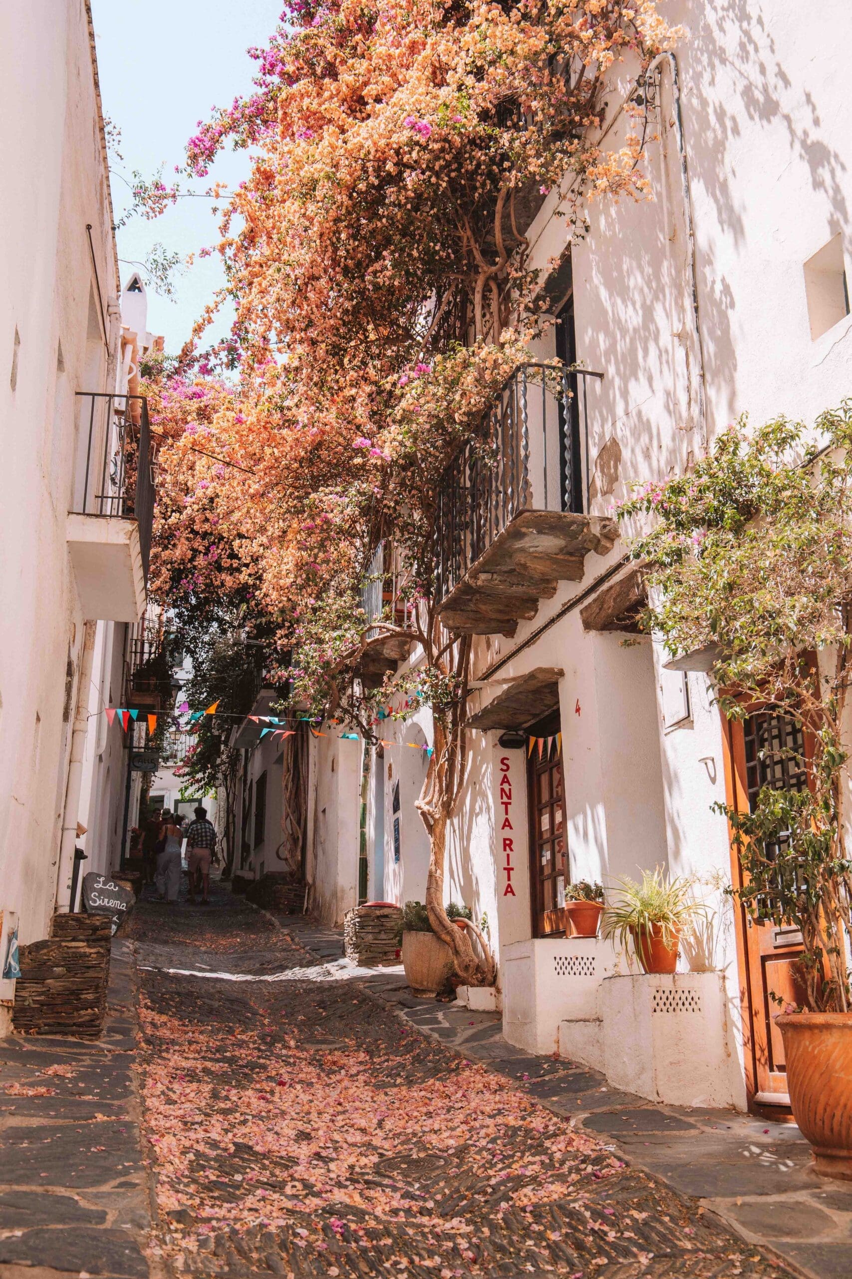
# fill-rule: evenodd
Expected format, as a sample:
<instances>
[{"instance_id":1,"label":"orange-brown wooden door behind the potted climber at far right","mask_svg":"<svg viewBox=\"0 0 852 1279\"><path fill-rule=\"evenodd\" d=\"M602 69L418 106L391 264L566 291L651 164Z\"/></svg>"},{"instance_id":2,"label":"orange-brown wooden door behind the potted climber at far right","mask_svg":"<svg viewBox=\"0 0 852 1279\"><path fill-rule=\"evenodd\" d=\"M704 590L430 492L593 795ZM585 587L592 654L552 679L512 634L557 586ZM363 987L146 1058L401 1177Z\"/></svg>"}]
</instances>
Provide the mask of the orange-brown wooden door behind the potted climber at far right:
<instances>
[{"instance_id":1,"label":"orange-brown wooden door behind the potted climber at far right","mask_svg":"<svg viewBox=\"0 0 852 1279\"><path fill-rule=\"evenodd\" d=\"M764 710L755 710L741 723L726 721L726 781L728 803L740 812L754 812L760 789L803 790L811 748L798 724ZM786 851L784 838L775 851ZM773 848L768 847L772 854ZM743 883L742 867L732 849L734 886ZM763 903L765 922L755 922L737 907L737 954L743 1010L743 1055L746 1087L752 1109L788 1106L784 1045L775 1026L783 1003L798 1004L802 986L796 961L802 954L797 929L779 927L769 918L772 902Z\"/></svg>"}]
</instances>

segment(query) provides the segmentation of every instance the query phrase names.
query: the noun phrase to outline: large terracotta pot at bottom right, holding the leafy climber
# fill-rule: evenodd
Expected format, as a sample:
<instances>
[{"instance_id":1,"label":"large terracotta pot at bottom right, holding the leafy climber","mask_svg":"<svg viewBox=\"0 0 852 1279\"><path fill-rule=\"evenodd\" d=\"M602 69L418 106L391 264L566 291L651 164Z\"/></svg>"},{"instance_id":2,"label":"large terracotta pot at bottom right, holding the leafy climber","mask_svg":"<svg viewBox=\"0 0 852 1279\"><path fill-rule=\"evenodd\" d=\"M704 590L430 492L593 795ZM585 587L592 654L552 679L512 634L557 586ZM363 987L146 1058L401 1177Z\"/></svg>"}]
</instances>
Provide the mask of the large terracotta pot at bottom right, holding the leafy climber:
<instances>
[{"instance_id":1,"label":"large terracotta pot at bottom right, holding the leafy climber","mask_svg":"<svg viewBox=\"0 0 852 1279\"><path fill-rule=\"evenodd\" d=\"M793 1118L823 1177L852 1181L852 1013L783 1013Z\"/></svg>"}]
</instances>

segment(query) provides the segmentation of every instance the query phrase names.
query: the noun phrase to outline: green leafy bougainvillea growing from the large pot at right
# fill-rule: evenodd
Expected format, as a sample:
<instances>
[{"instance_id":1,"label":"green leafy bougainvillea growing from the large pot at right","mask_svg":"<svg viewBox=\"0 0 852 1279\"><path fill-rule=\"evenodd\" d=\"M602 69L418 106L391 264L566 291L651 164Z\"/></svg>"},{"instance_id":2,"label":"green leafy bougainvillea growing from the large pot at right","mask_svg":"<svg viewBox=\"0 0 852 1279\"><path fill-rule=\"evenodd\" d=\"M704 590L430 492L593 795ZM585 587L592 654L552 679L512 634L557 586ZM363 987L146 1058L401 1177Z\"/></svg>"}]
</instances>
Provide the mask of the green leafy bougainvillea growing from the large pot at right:
<instances>
[{"instance_id":1,"label":"green leafy bougainvillea growing from the large pot at right","mask_svg":"<svg viewBox=\"0 0 852 1279\"><path fill-rule=\"evenodd\" d=\"M749 813L714 807L731 822L747 913L801 929L803 1001L848 1012L852 402L823 413L816 432L742 420L687 476L645 485L620 515L653 518L632 546L649 564L648 629L672 656L708 655L729 719L759 709L802 729L800 748L768 739L760 758L768 775L791 765L806 787L764 785Z\"/></svg>"}]
</instances>

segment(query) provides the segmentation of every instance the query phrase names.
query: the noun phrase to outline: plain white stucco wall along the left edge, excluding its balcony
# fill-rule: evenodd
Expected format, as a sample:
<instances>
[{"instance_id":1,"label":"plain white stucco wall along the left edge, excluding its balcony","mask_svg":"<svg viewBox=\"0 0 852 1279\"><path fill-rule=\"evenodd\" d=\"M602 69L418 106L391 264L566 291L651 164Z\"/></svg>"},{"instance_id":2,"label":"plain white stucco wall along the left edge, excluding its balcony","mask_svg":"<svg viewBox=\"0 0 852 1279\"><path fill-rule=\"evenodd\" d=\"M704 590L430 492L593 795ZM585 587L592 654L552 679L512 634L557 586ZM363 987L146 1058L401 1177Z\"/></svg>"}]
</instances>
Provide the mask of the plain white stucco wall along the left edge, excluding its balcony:
<instances>
[{"instance_id":1,"label":"plain white stucco wall along the left edge, excluding its balcony","mask_svg":"<svg viewBox=\"0 0 852 1279\"><path fill-rule=\"evenodd\" d=\"M55 900L83 638L65 541L74 393L107 389L107 345L115 359L118 343L112 214L80 0L6 8L0 109L0 884L26 943L46 935Z\"/></svg>"}]
</instances>

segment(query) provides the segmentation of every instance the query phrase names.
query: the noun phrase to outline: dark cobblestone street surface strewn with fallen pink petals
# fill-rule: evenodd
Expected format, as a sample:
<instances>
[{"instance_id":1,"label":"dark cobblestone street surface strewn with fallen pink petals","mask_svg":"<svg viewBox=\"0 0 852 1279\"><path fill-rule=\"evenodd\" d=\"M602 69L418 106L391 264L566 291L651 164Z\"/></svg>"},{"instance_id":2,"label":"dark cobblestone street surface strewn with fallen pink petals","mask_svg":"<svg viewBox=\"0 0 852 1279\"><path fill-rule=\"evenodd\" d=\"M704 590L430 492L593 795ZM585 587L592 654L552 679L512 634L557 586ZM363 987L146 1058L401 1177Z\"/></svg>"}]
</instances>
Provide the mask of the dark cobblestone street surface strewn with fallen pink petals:
<instances>
[{"instance_id":1,"label":"dark cobblestone street surface strewn with fallen pink petals","mask_svg":"<svg viewBox=\"0 0 852 1279\"><path fill-rule=\"evenodd\" d=\"M784 1279L711 1214L221 890L142 904L143 1131L179 1274ZM399 986L399 977L396 978ZM434 1005L424 1005L434 1014ZM469 1018L474 1021L475 1018ZM570 1068L552 1063L553 1076Z\"/></svg>"}]
</instances>

